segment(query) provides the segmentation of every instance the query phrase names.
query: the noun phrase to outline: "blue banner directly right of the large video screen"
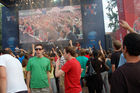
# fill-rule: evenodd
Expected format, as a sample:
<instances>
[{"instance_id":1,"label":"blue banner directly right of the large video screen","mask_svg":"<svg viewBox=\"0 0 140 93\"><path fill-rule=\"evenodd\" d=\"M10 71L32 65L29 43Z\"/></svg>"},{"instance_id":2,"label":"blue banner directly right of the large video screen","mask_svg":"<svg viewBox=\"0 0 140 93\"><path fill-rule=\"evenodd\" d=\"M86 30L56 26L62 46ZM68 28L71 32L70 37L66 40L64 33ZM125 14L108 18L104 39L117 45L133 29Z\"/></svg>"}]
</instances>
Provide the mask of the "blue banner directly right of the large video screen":
<instances>
[{"instance_id":1,"label":"blue banner directly right of the large video screen","mask_svg":"<svg viewBox=\"0 0 140 93\"><path fill-rule=\"evenodd\" d=\"M83 0L82 17L84 39L83 45L88 48L93 44L99 48L98 41L101 40L105 48L105 28L103 17L102 0Z\"/></svg>"}]
</instances>

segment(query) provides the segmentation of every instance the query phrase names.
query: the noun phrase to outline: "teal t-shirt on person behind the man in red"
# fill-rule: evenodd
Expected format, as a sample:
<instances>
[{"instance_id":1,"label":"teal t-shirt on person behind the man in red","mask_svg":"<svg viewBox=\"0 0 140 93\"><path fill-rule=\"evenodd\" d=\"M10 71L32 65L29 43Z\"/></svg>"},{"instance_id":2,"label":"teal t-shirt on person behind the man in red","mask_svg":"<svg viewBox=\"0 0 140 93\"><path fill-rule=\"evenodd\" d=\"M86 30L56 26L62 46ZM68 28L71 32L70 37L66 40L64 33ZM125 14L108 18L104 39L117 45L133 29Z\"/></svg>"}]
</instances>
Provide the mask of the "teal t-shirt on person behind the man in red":
<instances>
[{"instance_id":1,"label":"teal t-shirt on person behind the man in red","mask_svg":"<svg viewBox=\"0 0 140 93\"><path fill-rule=\"evenodd\" d=\"M80 62L81 68L83 69L81 73L81 77L84 77L86 73L86 64L87 64L88 58L84 56L79 56L76 59Z\"/></svg>"}]
</instances>

